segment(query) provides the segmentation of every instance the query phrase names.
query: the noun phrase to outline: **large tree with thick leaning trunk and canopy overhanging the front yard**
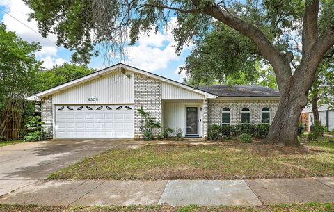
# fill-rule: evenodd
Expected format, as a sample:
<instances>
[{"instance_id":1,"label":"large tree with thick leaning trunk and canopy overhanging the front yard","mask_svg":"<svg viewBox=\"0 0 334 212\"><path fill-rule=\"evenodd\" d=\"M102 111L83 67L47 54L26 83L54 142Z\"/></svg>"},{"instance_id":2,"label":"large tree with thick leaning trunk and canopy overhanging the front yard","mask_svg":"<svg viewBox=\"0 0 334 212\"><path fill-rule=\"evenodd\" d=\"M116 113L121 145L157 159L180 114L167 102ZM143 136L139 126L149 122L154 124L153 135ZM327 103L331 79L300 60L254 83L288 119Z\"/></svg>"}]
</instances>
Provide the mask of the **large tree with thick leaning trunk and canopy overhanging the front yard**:
<instances>
[{"instance_id":1,"label":"large tree with thick leaning trunk and canopy overhanging the front yard","mask_svg":"<svg viewBox=\"0 0 334 212\"><path fill-rule=\"evenodd\" d=\"M74 51L72 59L86 63L98 45L122 54L128 37L134 44L170 16L177 16L173 35L178 53L184 44L204 38L214 22L233 28L256 45L275 72L281 99L266 141L278 145L299 145L299 115L317 67L334 44L333 0L24 1L42 35L56 33L57 43Z\"/></svg>"}]
</instances>

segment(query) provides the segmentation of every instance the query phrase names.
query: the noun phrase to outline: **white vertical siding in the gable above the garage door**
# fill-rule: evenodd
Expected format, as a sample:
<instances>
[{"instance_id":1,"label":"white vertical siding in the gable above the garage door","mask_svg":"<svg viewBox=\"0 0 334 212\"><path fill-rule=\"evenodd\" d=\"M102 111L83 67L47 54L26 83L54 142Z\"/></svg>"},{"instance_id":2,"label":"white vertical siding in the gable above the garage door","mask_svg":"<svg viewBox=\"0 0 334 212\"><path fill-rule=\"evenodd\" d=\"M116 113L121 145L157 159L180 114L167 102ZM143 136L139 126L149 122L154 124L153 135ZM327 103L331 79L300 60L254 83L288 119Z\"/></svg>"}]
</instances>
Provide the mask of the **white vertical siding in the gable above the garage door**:
<instances>
[{"instance_id":1,"label":"white vertical siding in the gable above the garage door","mask_svg":"<svg viewBox=\"0 0 334 212\"><path fill-rule=\"evenodd\" d=\"M88 101L97 98L98 101ZM133 104L133 74L113 72L74 88L58 92L52 97L53 104Z\"/></svg>"}]
</instances>

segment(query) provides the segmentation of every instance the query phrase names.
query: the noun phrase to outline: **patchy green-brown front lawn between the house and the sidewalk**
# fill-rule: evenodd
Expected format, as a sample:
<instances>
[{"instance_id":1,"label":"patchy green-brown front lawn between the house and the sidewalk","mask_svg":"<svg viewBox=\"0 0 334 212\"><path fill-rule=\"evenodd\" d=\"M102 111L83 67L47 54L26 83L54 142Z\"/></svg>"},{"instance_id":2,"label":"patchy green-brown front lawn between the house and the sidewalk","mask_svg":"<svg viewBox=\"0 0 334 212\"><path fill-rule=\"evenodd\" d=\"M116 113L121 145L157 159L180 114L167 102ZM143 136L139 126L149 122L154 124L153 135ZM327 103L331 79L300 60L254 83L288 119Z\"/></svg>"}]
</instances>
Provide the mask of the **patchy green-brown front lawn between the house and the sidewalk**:
<instances>
[{"instance_id":1,"label":"patchy green-brown front lawn between the house and the sidewalk","mask_svg":"<svg viewBox=\"0 0 334 212\"><path fill-rule=\"evenodd\" d=\"M260 179L334 177L334 143L322 139L301 148L259 142L148 145L117 149L55 172L49 179Z\"/></svg>"}]
</instances>

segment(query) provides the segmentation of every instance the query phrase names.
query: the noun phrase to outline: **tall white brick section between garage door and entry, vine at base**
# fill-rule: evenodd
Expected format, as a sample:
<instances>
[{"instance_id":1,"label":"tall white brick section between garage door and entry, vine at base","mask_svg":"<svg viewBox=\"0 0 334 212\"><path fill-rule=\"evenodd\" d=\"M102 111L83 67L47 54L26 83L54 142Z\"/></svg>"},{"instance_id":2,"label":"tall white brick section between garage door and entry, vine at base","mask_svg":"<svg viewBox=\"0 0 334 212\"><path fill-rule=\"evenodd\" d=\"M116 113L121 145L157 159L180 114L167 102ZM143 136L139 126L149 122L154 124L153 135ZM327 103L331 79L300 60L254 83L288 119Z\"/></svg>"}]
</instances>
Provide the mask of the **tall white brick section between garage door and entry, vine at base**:
<instances>
[{"instance_id":1,"label":"tall white brick section between garage door and entry, vine at base","mask_svg":"<svg viewBox=\"0 0 334 212\"><path fill-rule=\"evenodd\" d=\"M148 76L134 74L134 138L141 137L141 115L138 108L150 112L156 122L162 122L161 81ZM161 129L154 131L157 136Z\"/></svg>"}]
</instances>

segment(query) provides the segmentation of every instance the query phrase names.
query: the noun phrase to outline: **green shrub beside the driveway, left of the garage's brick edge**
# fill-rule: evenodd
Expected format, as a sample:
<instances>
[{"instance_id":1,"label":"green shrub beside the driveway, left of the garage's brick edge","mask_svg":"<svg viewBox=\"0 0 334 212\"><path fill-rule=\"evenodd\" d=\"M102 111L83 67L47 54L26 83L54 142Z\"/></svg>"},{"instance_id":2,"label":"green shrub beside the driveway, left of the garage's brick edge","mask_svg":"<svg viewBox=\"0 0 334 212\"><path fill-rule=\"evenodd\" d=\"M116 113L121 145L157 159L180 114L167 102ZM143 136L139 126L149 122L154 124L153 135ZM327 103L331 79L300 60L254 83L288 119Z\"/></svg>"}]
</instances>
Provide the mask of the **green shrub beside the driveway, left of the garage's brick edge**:
<instances>
[{"instance_id":1,"label":"green shrub beside the driveway, left of the garage's brick edge","mask_svg":"<svg viewBox=\"0 0 334 212\"><path fill-rule=\"evenodd\" d=\"M40 116L31 116L26 122L26 129L29 130L28 136L24 137L24 141L38 141L50 138L50 132L44 130L44 123Z\"/></svg>"}]
</instances>

